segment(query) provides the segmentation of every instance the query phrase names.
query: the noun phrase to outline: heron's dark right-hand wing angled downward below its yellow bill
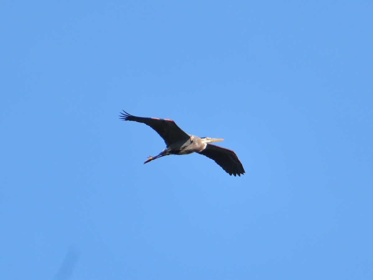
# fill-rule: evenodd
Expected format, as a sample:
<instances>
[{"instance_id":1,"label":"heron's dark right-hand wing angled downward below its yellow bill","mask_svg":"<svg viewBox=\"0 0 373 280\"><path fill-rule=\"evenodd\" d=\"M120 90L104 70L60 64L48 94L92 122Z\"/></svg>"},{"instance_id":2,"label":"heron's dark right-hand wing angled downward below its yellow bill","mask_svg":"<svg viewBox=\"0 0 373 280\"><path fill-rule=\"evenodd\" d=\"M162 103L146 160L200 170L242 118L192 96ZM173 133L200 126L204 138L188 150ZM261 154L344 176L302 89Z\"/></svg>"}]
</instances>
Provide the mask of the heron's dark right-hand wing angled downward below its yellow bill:
<instances>
[{"instance_id":1,"label":"heron's dark right-hand wing angled downward below its yellow bill","mask_svg":"<svg viewBox=\"0 0 373 280\"><path fill-rule=\"evenodd\" d=\"M237 158L236 153L232 150L213 144L207 144L206 148L198 153L213 159L225 172L229 173L229 175L241 176L241 174L245 173L244 167Z\"/></svg>"}]
</instances>

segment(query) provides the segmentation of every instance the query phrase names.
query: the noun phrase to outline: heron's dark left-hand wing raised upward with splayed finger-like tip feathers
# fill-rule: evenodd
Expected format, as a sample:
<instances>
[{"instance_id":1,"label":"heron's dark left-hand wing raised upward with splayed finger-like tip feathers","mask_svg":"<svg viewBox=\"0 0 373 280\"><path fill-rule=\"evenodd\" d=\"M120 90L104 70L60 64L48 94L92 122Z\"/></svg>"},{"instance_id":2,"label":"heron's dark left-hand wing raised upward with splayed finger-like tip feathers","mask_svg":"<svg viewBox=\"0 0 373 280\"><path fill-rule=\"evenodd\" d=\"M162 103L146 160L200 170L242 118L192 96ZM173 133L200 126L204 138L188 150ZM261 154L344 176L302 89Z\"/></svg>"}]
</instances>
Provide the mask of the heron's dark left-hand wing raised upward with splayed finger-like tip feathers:
<instances>
[{"instance_id":1,"label":"heron's dark left-hand wing raised upward with splayed finger-like tip feathers","mask_svg":"<svg viewBox=\"0 0 373 280\"><path fill-rule=\"evenodd\" d=\"M188 140L190 136L186 134L180 127L178 127L172 119L159 119L159 118L142 118L132 116L126 111L120 113L120 118L125 121L142 122L153 128L160 137L163 138L167 146L182 140Z\"/></svg>"}]
</instances>

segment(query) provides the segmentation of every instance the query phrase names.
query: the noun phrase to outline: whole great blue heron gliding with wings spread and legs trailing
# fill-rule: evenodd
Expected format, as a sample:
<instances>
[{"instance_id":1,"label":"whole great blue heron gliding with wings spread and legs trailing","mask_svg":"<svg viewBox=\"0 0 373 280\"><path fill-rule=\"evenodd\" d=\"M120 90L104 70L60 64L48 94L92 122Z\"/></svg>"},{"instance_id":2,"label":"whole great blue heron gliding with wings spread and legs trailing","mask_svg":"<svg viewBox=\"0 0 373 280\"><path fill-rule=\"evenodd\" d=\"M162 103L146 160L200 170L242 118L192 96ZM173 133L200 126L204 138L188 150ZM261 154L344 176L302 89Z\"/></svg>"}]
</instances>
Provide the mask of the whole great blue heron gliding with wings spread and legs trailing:
<instances>
[{"instance_id":1,"label":"whole great blue heron gliding with wings spread and legs trailing","mask_svg":"<svg viewBox=\"0 0 373 280\"><path fill-rule=\"evenodd\" d=\"M153 159L160 158L161 156L167 155L186 155L189 153L199 153L213 159L219 164L225 172L229 175L238 175L245 173L241 162L237 158L237 155L232 150L228 150L213 144L209 144L215 141L222 141L223 139L214 139L209 137L198 137L195 135L186 134L181 128L179 128L172 119L159 119L159 118L142 118L138 116L132 116L126 111L120 113L120 118L125 121L136 121L142 122L153 128L160 137L163 138L166 143L166 148L163 149L156 156L149 156L144 164L152 161Z\"/></svg>"}]
</instances>

